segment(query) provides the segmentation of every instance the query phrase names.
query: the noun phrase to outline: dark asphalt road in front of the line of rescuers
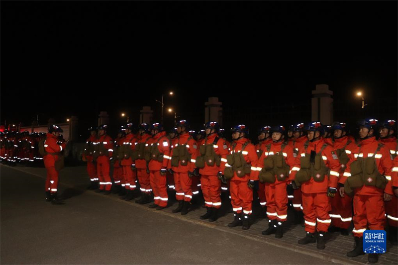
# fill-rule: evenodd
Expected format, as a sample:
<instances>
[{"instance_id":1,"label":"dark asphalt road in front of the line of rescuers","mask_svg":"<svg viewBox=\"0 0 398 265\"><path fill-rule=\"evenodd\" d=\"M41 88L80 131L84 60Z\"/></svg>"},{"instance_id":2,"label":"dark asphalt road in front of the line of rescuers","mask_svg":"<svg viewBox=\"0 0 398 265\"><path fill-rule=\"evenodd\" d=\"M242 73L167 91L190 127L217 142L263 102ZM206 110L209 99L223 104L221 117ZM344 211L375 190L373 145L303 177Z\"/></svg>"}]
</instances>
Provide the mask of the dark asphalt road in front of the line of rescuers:
<instances>
[{"instance_id":1,"label":"dark asphalt road in front of the line of rescuers","mask_svg":"<svg viewBox=\"0 0 398 265\"><path fill-rule=\"evenodd\" d=\"M1 264L333 264L1 166Z\"/></svg>"}]
</instances>

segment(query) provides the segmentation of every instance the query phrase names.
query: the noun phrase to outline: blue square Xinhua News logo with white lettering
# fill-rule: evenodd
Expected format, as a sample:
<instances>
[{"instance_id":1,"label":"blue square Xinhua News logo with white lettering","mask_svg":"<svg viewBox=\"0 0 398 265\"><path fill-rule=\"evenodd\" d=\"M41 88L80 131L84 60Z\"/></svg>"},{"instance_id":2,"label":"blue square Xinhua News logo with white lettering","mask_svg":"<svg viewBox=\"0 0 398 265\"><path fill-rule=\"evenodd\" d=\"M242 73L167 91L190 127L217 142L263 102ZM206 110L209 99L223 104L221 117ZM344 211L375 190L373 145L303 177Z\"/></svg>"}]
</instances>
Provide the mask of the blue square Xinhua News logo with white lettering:
<instances>
[{"instance_id":1,"label":"blue square Xinhua News logo with white lettering","mask_svg":"<svg viewBox=\"0 0 398 265\"><path fill-rule=\"evenodd\" d=\"M363 251L366 254L383 254L387 251L387 233L384 230L365 230Z\"/></svg>"}]
</instances>

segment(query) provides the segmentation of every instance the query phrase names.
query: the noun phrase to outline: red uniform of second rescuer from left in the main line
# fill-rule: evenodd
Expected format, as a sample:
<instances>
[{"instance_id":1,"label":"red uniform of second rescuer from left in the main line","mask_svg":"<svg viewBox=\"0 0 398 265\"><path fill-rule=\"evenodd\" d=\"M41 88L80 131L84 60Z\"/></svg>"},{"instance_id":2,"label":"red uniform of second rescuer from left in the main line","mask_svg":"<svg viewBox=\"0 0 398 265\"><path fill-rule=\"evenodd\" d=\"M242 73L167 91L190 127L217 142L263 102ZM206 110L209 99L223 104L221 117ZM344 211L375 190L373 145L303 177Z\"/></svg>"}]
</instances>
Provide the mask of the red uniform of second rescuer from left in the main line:
<instances>
[{"instance_id":1,"label":"red uniform of second rescuer from left in the main line","mask_svg":"<svg viewBox=\"0 0 398 265\"><path fill-rule=\"evenodd\" d=\"M106 191L110 191L112 188L112 181L109 176L109 159L112 157L113 154L113 141L110 136L104 134L102 136L99 136L99 138L96 140L96 146L98 147L99 145L103 145L105 150L104 154L99 153L97 157L97 173L98 177L100 178L100 189L105 189ZM95 152L99 152L96 151Z\"/></svg>"}]
</instances>

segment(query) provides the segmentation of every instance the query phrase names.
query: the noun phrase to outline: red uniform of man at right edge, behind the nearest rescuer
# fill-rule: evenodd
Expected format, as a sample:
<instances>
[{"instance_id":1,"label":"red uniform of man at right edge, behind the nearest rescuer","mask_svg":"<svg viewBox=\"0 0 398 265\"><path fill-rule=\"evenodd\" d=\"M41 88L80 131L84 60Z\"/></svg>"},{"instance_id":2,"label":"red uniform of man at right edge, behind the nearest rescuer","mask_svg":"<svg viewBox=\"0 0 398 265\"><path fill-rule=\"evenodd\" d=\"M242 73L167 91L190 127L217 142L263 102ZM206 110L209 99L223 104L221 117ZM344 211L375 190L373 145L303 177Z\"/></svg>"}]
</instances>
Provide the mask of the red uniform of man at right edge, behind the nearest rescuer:
<instances>
[{"instance_id":1,"label":"red uniform of man at right edge, behind the nearest rescuer","mask_svg":"<svg viewBox=\"0 0 398 265\"><path fill-rule=\"evenodd\" d=\"M390 150L391 159L397 156L397 138L390 137L386 139L380 139L380 142L384 144ZM394 164L397 167L397 163ZM393 196L390 201L386 201L386 214L389 221L389 225L398 226L398 198Z\"/></svg>"}]
</instances>

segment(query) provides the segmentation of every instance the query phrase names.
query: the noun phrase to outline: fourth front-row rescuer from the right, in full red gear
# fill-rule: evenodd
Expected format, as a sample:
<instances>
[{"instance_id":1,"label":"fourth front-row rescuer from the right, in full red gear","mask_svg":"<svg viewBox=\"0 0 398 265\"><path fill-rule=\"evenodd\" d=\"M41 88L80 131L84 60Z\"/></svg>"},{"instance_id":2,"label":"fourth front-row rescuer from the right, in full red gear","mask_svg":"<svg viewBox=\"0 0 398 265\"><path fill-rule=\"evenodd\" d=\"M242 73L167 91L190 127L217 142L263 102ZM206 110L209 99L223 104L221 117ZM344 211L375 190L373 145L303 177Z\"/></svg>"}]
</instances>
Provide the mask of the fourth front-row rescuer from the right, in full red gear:
<instances>
[{"instance_id":1,"label":"fourth front-row rescuer from the right, in full red gear","mask_svg":"<svg viewBox=\"0 0 398 265\"><path fill-rule=\"evenodd\" d=\"M233 127L231 131L233 143L229 148L224 177L230 181L231 203L235 213L228 227L242 225L242 229L247 230L250 228L253 189L258 189L258 157L256 148L247 139L249 130L244 124Z\"/></svg>"}]
</instances>

